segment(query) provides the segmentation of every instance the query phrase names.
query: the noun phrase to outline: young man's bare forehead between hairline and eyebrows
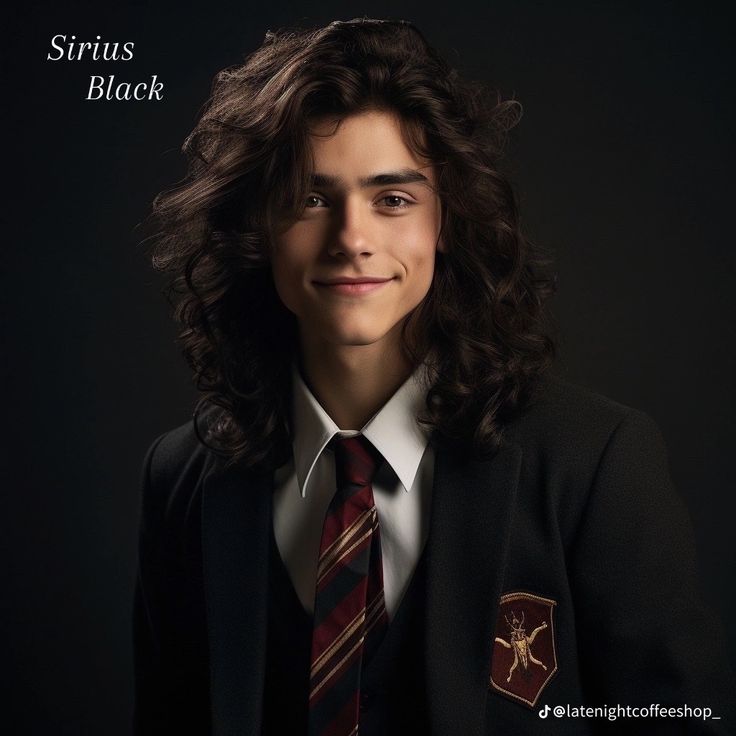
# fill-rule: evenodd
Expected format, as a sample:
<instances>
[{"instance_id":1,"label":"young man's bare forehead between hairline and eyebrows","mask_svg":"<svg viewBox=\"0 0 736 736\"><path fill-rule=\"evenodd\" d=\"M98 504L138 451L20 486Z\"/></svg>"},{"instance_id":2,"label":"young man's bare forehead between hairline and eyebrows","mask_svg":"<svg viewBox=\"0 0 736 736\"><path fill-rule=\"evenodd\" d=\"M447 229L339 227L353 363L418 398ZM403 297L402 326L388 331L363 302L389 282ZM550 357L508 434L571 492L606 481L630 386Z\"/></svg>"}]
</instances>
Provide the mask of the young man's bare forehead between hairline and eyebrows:
<instances>
[{"instance_id":1,"label":"young man's bare forehead between hairline and eyebrows","mask_svg":"<svg viewBox=\"0 0 736 736\"><path fill-rule=\"evenodd\" d=\"M391 112L369 110L341 120L318 120L310 126L309 142L315 173L359 178L415 169L431 175L431 162L413 149L407 126Z\"/></svg>"}]
</instances>

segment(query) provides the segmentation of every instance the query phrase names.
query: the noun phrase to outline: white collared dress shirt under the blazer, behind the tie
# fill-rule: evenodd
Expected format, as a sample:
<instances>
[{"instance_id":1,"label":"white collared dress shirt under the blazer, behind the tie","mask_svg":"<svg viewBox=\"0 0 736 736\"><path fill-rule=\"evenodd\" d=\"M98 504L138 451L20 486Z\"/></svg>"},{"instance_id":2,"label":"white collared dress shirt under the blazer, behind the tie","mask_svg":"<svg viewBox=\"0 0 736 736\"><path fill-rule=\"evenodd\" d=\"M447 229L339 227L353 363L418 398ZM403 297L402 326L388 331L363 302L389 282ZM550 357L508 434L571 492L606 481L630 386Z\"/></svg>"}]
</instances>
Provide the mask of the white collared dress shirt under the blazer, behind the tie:
<instances>
[{"instance_id":1,"label":"white collared dress shirt under the blazer, behind the tie","mask_svg":"<svg viewBox=\"0 0 736 736\"><path fill-rule=\"evenodd\" d=\"M425 406L424 369L418 368L360 430L340 430L293 372L293 460L276 471L273 524L276 544L304 608L314 611L322 524L335 495L329 441L364 435L385 462L373 479L381 529L383 587L392 619L427 540L434 453L416 421Z\"/></svg>"}]
</instances>

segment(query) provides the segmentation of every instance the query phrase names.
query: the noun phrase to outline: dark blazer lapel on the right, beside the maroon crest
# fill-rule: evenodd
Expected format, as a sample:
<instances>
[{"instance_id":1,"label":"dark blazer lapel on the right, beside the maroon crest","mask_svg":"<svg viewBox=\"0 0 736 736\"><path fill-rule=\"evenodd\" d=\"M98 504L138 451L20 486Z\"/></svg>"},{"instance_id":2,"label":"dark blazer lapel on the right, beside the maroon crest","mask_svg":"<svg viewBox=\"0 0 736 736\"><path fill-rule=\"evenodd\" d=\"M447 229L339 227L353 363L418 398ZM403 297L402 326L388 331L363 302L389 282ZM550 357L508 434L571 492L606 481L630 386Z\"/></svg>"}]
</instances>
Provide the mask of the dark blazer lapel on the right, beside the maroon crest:
<instances>
[{"instance_id":1,"label":"dark blazer lapel on the right, beside the maroon crest","mask_svg":"<svg viewBox=\"0 0 736 736\"><path fill-rule=\"evenodd\" d=\"M488 461L438 449L427 547L425 666L432 733L483 733L521 448Z\"/></svg>"}]
</instances>

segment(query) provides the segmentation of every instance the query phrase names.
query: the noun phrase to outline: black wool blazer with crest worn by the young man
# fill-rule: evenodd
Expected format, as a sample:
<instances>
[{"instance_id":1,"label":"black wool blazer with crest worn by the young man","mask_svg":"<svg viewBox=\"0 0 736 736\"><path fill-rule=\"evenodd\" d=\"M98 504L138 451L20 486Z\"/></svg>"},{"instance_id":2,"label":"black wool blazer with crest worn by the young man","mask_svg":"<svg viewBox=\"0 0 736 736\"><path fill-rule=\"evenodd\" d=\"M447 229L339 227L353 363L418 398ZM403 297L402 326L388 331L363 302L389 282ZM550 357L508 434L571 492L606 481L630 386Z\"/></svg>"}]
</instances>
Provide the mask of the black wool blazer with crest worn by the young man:
<instances>
[{"instance_id":1,"label":"black wool blazer with crest worn by the young man","mask_svg":"<svg viewBox=\"0 0 736 736\"><path fill-rule=\"evenodd\" d=\"M700 602L688 514L652 420L547 378L505 440L487 461L436 448L417 673L432 734L736 732L722 630ZM272 483L225 470L191 424L150 448L136 733L260 733ZM537 600L551 602L528 639L538 664L527 659L527 673L519 660L509 684L521 653L510 624ZM529 637L540 622L526 611ZM539 715L566 704L707 706L721 719Z\"/></svg>"}]
</instances>

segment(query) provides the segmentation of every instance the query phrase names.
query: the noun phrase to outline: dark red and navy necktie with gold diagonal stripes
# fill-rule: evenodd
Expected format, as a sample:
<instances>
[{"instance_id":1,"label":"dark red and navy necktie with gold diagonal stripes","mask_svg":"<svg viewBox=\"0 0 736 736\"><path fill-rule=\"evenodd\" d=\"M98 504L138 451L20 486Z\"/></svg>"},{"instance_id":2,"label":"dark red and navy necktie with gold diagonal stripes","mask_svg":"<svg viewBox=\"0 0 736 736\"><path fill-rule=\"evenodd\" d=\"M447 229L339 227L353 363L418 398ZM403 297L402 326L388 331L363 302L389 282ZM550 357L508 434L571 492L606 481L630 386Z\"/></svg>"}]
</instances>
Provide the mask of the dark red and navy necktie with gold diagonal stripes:
<instances>
[{"instance_id":1,"label":"dark red and navy necktie with gold diagonal stripes","mask_svg":"<svg viewBox=\"0 0 736 736\"><path fill-rule=\"evenodd\" d=\"M362 435L334 439L337 492L325 515L314 601L309 736L358 733L360 675L388 627L371 482L382 460Z\"/></svg>"}]
</instances>

